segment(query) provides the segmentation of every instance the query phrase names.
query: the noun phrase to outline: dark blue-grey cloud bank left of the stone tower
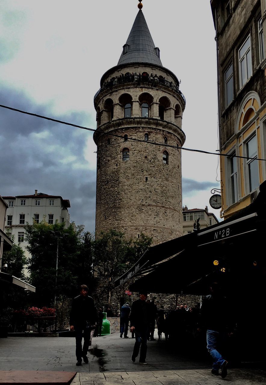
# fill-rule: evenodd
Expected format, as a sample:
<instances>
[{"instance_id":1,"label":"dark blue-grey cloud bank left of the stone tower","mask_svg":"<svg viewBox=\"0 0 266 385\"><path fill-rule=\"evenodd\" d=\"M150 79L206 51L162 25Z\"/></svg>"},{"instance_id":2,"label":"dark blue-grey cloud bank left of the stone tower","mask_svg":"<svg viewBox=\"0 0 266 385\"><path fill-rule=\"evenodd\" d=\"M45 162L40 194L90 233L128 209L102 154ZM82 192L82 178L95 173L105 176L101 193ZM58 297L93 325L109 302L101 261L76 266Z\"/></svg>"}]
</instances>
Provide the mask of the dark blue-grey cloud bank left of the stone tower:
<instances>
[{"instance_id":1,"label":"dark blue-grey cloud bank left of the stone tower","mask_svg":"<svg viewBox=\"0 0 266 385\"><path fill-rule=\"evenodd\" d=\"M10 88L0 90L0 104L50 116L49 105L37 105ZM59 119L85 126L89 116L74 111ZM70 200L71 220L94 231L96 147L91 132L0 108L0 138L1 195L34 194L35 189L61 195Z\"/></svg>"}]
</instances>

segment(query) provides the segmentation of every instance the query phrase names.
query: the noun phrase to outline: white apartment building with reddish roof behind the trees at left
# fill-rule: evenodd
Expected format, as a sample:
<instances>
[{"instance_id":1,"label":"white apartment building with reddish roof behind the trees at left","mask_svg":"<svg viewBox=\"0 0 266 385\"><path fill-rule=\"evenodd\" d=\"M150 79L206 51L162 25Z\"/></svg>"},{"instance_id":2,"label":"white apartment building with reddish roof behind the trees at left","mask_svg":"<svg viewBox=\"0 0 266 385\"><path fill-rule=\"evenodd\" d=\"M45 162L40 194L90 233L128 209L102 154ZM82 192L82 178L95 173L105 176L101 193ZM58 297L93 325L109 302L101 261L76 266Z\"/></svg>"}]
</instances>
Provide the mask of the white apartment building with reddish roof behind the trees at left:
<instances>
[{"instance_id":1,"label":"white apartment building with reddish roof behind the trees at left","mask_svg":"<svg viewBox=\"0 0 266 385\"><path fill-rule=\"evenodd\" d=\"M70 225L68 212L70 202L62 196L43 194L35 190L33 195L3 196L2 198L8 206L5 233L9 237L14 236L14 243L20 243L27 257L30 256L25 241L27 223L40 223L44 219L48 224L54 224L56 220L59 223L64 222L66 229Z\"/></svg>"}]
</instances>

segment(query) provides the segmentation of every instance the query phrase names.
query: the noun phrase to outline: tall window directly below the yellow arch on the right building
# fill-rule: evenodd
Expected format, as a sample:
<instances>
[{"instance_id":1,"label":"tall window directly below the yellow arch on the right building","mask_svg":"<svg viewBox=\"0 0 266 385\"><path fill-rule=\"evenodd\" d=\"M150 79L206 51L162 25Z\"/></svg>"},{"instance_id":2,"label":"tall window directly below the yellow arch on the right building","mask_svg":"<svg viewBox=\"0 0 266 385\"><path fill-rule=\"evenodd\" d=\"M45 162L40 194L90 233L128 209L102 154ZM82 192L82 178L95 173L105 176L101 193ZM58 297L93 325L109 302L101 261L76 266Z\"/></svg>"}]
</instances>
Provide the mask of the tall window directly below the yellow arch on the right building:
<instances>
[{"instance_id":1,"label":"tall window directly below the yellow arch on the right building","mask_svg":"<svg viewBox=\"0 0 266 385\"><path fill-rule=\"evenodd\" d=\"M257 148L257 139L256 136L253 136L253 138L246 143L247 157L257 158ZM256 159L247 159L247 171L249 192L251 192L259 186L259 170L258 161Z\"/></svg>"}]
</instances>

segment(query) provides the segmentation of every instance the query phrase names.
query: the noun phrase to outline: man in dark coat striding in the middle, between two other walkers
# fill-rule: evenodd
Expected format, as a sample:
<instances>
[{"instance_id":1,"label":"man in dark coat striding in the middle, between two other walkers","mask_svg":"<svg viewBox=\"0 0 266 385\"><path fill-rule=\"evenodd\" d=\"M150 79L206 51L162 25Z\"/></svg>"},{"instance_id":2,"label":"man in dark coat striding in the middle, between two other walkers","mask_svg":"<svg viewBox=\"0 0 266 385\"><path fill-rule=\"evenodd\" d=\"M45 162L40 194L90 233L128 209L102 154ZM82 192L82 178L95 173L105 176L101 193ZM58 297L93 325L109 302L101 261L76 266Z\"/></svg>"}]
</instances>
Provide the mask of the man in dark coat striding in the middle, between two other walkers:
<instances>
[{"instance_id":1,"label":"man in dark coat striding in the middle, between two other walkers","mask_svg":"<svg viewBox=\"0 0 266 385\"><path fill-rule=\"evenodd\" d=\"M139 348L141 348L139 363L142 365L147 364L147 335L150 320L149 306L146 303L147 295L147 291L142 290L139 292L139 299L132 303L130 313L130 331L134 330L136 339L131 361L136 361L136 357L139 355Z\"/></svg>"}]
</instances>

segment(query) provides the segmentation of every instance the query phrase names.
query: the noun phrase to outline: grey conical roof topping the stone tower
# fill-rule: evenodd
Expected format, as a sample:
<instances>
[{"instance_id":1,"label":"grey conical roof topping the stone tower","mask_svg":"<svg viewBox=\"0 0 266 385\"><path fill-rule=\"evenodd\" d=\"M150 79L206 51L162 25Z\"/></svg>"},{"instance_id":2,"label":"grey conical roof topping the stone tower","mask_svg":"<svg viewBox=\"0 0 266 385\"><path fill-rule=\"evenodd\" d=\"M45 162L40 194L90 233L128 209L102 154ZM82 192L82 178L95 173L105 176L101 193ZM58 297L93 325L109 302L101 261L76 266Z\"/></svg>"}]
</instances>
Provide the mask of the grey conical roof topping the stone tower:
<instances>
[{"instance_id":1,"label":"grey conical roof topping the stone tower","mask_svg":"<svg viewBox=\"0 0 266 385\"><path fill-rule=\"evenodd\" d=\"M141 9L137 13L126 45L127 47L123 50L117 65L141 62L162 66L162 62L156 54L155 45Z\"/></svg>"}]
</instances>

